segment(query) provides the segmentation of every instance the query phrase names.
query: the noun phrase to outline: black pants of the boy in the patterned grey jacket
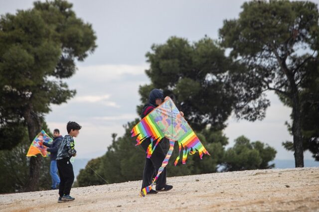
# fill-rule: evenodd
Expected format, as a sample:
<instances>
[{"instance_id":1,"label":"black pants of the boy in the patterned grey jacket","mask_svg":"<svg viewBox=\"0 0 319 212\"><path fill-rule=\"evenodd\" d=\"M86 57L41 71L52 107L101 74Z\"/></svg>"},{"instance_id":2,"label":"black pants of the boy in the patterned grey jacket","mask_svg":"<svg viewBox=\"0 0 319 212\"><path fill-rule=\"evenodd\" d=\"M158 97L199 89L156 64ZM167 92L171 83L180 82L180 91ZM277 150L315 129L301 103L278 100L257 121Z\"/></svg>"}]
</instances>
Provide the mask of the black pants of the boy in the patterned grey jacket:
<instances>
[{"instance_id":1,"label":"black pants of the boy in the patterned grey jacket","mask_svg":"<svg viewBox=\"0 0 319 212\"><path fill-rule=\"evenodd\" d=\"M56 163L60 175L59 195L60 197L69 195L74 182L74 172L70 158L56 160Z\"/></svg>"}]
</instances>

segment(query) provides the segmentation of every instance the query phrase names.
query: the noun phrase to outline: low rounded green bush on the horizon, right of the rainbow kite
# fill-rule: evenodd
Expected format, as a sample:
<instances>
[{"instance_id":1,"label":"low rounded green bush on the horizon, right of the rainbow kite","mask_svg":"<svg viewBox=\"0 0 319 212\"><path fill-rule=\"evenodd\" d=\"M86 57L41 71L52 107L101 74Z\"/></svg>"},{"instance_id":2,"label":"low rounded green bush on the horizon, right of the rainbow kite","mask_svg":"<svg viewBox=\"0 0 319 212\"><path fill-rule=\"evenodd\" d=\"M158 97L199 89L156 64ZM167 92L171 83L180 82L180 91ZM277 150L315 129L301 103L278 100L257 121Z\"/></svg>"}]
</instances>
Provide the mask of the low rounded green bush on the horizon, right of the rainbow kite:
<instances>
[{"instance_id":1,"label":"low rounded green bush on the horizon, right of the rainbow kite","mask_svg":"<svg viewBox=\"0 0 319 212\"><path fill-rule=\"evenodd\" d=\"M260 141L250 143L245 136L235 139L235 145L225 152L224 171L242 171L251 169L269 169L275 164L268 165L274 160L276 150Z\"/></svg>"}]
</instances>

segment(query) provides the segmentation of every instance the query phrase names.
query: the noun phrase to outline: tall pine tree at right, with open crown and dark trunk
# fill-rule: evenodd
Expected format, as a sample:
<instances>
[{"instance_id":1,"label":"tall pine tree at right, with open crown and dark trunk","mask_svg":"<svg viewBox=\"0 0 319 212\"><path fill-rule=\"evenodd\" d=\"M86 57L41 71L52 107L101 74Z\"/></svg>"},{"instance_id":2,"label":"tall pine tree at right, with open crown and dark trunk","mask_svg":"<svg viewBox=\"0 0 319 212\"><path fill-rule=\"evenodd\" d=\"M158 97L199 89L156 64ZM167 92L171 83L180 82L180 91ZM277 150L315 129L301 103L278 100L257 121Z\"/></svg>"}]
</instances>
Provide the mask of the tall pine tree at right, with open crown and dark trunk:
<instances>
[{"instance_id":1,"label":"tall pine tree at right, with open crown and dark trunk","mask_svg":"<svg viewBox=\"0 0 319 212\"><path fill-rule=\"evenodd\" d=\"M318 5L310 1L254 0L219 30L221 46L235 60L229 80L237 117L262 119L269 106L264 92L274 91L292 107L296 167L304 166L302 107L315 97L302 95L307 79L318 72L318 20Z\"/></svg>"}]
</instances>

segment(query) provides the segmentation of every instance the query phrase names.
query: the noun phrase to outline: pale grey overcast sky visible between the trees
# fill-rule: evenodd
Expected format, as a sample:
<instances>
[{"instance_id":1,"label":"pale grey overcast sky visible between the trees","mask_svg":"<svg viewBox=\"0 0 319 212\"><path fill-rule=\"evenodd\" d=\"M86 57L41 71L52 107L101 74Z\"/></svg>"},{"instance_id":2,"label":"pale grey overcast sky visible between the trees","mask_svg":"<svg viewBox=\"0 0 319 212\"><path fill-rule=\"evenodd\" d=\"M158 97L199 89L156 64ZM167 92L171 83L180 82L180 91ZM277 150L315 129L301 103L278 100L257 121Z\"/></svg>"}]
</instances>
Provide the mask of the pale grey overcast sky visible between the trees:
<instances>
[{"instance_id":1,"label":"pale grey overcast sky visible between the trees","mask_svg":"<svg viewBox=\"0 0 319 212\"><path fill-rule=\"evenodd\" d=\"M70 0L78 17L92 23L98 48L66 82L77 95L67 104L52 106L46 115L51 130L66 134L66 123L74 120L83 128L75 139L79 158L94 158L106 152L111 133L122 135L123 124L138 117L139 85L149 83L145 54L153 43L170 36L197 41L205 35L217 39L224 19L236 18L243 0ZM32 7L32 0L0 0L0 14ZM315 1L319 3L319 0ZM291 109L268 94L271 106L262 121L236 121L230 117L224 133L233 140L245 135L277 150L276 159L293 159L281 143L292 140L284 125ZM306 159L311 154L306 152Z\"/></svg>"}]
</instances>

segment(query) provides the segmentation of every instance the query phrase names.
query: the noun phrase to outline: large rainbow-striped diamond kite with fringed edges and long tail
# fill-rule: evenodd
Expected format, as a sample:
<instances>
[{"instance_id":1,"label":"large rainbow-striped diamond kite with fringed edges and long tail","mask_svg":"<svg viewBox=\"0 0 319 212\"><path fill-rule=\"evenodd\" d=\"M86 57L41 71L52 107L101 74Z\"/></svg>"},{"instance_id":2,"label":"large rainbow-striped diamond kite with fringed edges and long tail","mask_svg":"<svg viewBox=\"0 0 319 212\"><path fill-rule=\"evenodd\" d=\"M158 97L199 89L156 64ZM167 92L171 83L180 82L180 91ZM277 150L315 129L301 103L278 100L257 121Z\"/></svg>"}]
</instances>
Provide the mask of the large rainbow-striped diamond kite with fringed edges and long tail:
<instances>
[{"instance_id":1,"label":"large rainbow-striped diamond kite with fringed edges and long tail","mask_svg":"<svg viewBox=\"0 0 319 212\"><path fill-rule=\"evenodd\" d=\"M148 158L151 158L156 146L163 137L166 137L169 140L169 149L157 176L154 178L150 186L143 188L140 192L140 196L143 197L151 191L154 183L160 176L160 173L168 164L168 160L174 149L175 141L178 142L179 147L178 157L174 162L175 166L179 160L182 148L182 164L186 163L188 154L192 155L198 152L200 159L202 158L203 153L210 155L187 121L180 115L179 110L169 97L166 97L160 106L153 109L137 125L135 125L131 133L132 137L137 136L136 145L140 145L146 138L151 138L151 143L146 151Z\"/></svg>"}]
</instances>

